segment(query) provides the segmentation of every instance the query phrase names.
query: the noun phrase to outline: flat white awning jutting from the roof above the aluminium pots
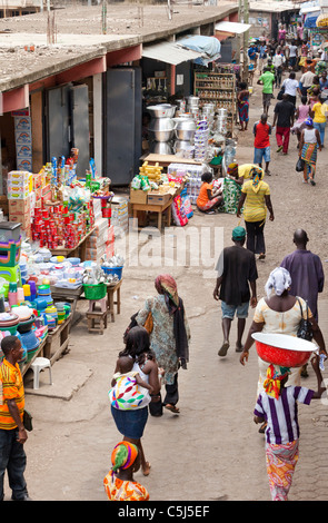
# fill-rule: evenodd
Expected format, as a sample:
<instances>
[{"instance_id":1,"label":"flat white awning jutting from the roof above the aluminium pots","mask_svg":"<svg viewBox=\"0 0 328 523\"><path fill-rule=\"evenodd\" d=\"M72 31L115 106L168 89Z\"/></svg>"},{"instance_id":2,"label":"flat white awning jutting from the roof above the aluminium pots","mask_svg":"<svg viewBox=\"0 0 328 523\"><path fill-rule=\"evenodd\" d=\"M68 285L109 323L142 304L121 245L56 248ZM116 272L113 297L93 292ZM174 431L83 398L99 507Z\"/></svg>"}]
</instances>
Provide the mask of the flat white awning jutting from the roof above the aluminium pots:
<instances>
[{"instance_id":1,"label":"flat white awning jutting from the roof above the aluminium pots","mask_svg":"<svg viewBox=\"0 0 328 523\"><path fill-rule=\"evenodd\" d=\"M177 42L160 42L142 47L142 58L151 58L171 66L178 66L183 61L196 60L203 56L200 51L185 49Z\"/></svg>"}]
</instances>

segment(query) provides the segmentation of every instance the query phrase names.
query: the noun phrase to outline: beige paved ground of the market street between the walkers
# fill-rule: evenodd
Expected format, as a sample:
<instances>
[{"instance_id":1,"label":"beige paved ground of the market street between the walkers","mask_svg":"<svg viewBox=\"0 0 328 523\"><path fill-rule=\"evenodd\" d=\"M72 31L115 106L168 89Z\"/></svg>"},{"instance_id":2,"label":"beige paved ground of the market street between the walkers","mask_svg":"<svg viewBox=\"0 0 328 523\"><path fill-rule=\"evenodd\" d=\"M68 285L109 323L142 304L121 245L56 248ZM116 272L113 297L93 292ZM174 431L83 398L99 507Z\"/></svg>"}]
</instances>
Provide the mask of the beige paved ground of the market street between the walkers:
<instances>
[{"instance_id":1,"label":"beige paved ground of the market street between the walkers","mask_svg":"<svg viewBox=\"0 0 328 523\"><path fill-rule=\"evenodd\" d=\"M237 147L240 164L252 161L251 129L260 116L260 100L261 90L256 86L250 99L249 130ZM272 176L267 181L276 219L266 225L267 258L258 262L258 298L264 295L270 270L294 250L296 228L307 230L309 248L321 257L325 269L328 258L322 219L327 149L319 154L316 187L302 185L301 175L295 170L295 138L289 155L281 157L276 154L272 136L271 156ZM223 227L228 246L238 221L233 215L203 216L196 211L187 228ZM203 267L190 266L188 262L186 266L171 267L167 260L167 266L163 263L160 266L158 253L152 256L156 267L125 267L121 314L116 315L115 323L108 323L102 336L88 334L85 317L73 327L69 354L53 365L52 389L46 372L39 392L30 394L27 387L27 408L34 423L26 444L29 494L39 501L106 501L102 480L110 467L111 450L120 441L107 393L122 348L122 334L130 316L147 296L156 293L155 277L169 272L177 279L190 323L190 363L187 371L179 372L180 414L165 412L160 418L149 417L142 442L151 472L148 477L138 472L136 478L148 489L151 501L269 501L265 438L252 421L258 376L256 349L252 347L249 363L242 367L235 353L235 322L230 349L220 358L217 354L222 339L220 310L212 298L215 273L213 278L203 277ZM319 298L319 325L326 344L327 288L326 284ZM87 303L81 300L80 313L86 309ZM247 328L251 317L252 312ZM315 386L311 368L302 384ZM310 406L299 406L300 458L289 494L291 501L328 499L326 403L314 401Z\"/></svg>"}]
</instances>

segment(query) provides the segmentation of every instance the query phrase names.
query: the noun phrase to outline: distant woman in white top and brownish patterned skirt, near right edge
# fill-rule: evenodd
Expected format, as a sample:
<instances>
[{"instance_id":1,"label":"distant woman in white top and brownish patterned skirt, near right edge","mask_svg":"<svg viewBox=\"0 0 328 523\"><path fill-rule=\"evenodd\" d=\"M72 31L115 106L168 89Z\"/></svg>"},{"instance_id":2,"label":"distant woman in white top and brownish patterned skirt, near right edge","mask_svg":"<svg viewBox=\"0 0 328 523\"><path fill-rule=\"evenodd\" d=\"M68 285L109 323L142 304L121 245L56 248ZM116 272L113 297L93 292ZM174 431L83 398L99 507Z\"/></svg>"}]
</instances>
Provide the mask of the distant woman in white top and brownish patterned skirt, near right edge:
<instances>
[{"instance_id":1,"label":"distant woman in white top and brownish patterned skirt, near right edge","mask_svg":"<svg viewBox=\"0 0 328 523\"><path fill-rule=\"evenodd\" d=\"M304 160L304 184L316 185L315 175L317 166L318 148L321 150L321 138L318 129L314 127L314 120L307 118L305 129L300 134L299 157Z\"/></svg>"}]
</instances>

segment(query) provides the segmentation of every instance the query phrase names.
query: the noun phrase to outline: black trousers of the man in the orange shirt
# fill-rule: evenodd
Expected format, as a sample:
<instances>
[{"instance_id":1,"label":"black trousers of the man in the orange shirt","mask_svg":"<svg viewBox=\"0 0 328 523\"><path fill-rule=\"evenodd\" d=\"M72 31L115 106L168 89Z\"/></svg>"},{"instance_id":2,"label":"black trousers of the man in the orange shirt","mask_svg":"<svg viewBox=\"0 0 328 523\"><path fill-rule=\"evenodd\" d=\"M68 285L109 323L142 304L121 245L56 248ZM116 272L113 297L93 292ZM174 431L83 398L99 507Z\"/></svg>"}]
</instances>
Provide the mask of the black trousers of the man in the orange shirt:
<instances>
[{"instance_id":1,"label":"black trousers of the man in the orange shirt","mask_svg":"<svg viewBox=\"0 0 328 523\"><path fill-rule=\"evenodd\" d=\"M24 447L17 441L18 428L0 430L0 501L3 501L3 480L8 472L9 486L13 500L22 500L28 495L24 480L27 456Z\"/></svg>"}]
</instances>

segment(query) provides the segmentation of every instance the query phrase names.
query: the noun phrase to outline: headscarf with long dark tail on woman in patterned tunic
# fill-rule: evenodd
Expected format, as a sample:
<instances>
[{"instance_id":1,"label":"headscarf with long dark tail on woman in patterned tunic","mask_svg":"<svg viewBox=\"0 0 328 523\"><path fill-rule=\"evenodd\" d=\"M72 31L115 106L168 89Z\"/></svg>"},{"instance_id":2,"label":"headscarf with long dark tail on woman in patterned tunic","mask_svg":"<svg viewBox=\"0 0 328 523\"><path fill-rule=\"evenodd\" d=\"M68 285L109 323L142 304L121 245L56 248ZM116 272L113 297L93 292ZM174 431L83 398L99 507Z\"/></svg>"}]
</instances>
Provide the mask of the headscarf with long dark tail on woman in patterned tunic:
<instances>
[{"instance_id":1,"label":"headscarf with long dark tail on woman in patterned tunic","mask_svg":"<svg viewBox=\"0 0 328 523\"><path fill-rule=\"evenodd\" d=\"M158 294L163 294L169 314L173 315L176 352L182 368L187 368L189 346L185 325L185 307L182 299L178 295L177 283L169 274L161 274L156 278L155 287Z\"/></svg>"}]
</instances>

